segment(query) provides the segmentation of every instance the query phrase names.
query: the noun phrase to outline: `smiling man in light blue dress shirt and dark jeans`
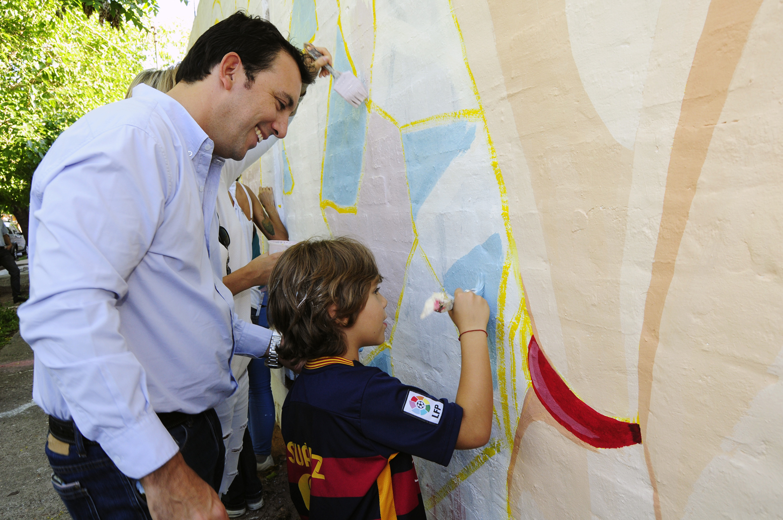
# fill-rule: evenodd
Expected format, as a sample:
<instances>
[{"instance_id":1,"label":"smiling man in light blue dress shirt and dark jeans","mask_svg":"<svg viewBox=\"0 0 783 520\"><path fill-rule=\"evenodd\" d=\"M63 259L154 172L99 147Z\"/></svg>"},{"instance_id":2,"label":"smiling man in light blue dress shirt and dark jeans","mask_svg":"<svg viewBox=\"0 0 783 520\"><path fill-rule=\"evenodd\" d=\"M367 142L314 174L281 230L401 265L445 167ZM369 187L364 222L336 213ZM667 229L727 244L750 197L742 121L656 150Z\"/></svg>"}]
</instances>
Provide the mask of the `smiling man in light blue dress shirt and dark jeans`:
<instances>
[{"instance_id":1,"label":"smiling man in light blue dress shirt and dark jeans","mask_svg":"<svg viewBox=\"0 0 783 520\"><path fill-rule=\"evenodd\" d=\"M227 518L212 408L236 390L231 356L265 356L271 333L236 317L216 274L219 175L223 158L286 135L321 65L235 13L168 95L139 85L92 110L36 170L20 330L74 518Z\"/></svg>"}]
</instances>

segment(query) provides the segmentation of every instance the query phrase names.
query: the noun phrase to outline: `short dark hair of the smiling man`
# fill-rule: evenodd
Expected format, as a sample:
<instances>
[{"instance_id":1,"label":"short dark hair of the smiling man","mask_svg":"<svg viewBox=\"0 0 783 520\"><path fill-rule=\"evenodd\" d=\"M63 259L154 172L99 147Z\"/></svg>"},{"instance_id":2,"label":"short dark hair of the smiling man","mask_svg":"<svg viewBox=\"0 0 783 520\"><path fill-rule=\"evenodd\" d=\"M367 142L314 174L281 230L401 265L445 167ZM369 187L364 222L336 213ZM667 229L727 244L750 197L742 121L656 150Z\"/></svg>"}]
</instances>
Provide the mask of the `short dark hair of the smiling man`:
<instances>
[{"instance_id":1,"label":"short dark hair of the smiling man","mask_svg":"<svg viewBox=\"0 0 783 520\"><path fill-rule=\"evenodd\" d=\"M203 80L229 52L240 56L247 87L255 81L256 73L272 67L280 52L287 52L294 58L302 83L310 85L316 81L316 70L312 68L313 60L309 54L283 38L283 34L268 20L237 11L200 35L179 65L177 83Z\"/></svg>"}]
</instances>

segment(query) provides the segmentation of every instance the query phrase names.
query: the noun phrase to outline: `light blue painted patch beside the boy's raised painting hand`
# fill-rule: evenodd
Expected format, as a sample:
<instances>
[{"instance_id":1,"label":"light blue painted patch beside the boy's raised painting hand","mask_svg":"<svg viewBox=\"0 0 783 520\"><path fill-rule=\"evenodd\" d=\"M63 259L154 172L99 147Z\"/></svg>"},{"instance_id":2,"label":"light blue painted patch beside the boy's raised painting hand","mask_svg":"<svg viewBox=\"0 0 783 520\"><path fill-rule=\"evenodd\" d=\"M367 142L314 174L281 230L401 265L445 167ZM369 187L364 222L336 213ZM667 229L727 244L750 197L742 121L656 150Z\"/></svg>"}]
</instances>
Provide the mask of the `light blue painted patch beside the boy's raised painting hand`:
<instances>
[{"instance_id":1,"label":"light blue painted patch beside the boy's raised painting hand","mask_svg":"<svg viewBox=\"0 0 783 520\"><path fill-rule=\"evenodd\" d=\"M471 249L446 271L443 284L449 294L454 294L457 287L472 289L480 281L484 282L483 294L489 303L489 323L487 324L487 345L489 346L489 363L492 365L493 386L497 388L497 348L495 345L495 328L497 319L497 295L500 291L500 277L503 273L503 243L500 234L495 233L484 244Z\"/></svg>"}]
</instances>

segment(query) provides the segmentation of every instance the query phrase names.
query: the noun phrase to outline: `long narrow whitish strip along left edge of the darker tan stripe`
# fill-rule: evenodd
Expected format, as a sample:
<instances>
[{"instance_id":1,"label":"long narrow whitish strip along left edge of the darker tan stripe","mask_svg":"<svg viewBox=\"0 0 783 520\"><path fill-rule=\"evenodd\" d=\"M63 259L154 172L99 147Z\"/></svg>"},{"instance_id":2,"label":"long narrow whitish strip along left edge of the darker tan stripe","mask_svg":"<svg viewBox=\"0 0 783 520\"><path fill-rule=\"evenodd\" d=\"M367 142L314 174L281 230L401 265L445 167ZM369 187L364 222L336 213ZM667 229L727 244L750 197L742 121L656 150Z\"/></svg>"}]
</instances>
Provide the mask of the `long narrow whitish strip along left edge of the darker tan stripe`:
<instances>
[{"instance_id":1,"label":"long narrow whitish strip along left edge of the darker tan stripe","mask_svg":"<svg viewBox=\"0 0 783 520\"><path fill-rule=\"evenodd\" d=\"M666 191L674 131L709 0L663 0L633 153L620 273L620 327L628 374L628 417L638 410L639 341Z\"/></svg>"}]
</instances>

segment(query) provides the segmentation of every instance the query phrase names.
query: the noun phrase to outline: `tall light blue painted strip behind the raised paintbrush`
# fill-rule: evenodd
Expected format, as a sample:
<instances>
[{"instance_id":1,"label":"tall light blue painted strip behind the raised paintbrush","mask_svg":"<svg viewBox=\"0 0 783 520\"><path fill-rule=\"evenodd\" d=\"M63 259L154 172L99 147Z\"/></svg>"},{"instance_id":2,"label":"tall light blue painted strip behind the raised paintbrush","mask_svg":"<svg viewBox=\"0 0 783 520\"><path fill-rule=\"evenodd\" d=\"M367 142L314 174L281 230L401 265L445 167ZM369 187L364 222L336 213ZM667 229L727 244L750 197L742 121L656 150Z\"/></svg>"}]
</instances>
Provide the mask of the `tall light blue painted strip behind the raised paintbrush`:
<instances>
[{"instance_id":1,"label":"tall light blue painted strip behind the raised paintbrush","mask_svg":"<svg viewBox=\"0 0 783 520\"><path fill-rule=\"evenodd\" d=\"M351 70L340 31L337 31L334 67L337 70ZM350 207L356 204L356 198L359 196L368 114L364 105L353 107L337 94L334 85L332 87L329 96L327 149L323 159L321 199L331 200L338 206Z\"/></svg>"}]
</instances>

